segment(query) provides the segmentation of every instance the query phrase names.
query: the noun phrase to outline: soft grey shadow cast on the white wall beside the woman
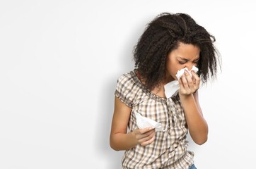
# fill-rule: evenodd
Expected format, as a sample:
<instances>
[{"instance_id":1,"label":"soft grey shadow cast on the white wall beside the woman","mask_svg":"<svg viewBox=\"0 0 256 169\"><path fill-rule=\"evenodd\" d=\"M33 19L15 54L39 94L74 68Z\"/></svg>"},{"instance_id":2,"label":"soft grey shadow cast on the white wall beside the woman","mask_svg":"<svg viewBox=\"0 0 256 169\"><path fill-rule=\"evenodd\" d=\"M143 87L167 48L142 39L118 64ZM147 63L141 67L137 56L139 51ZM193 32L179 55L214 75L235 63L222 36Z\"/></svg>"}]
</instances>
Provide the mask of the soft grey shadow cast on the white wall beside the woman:
<instances>
[{"instance_id":1,"label":"soft grey shadow cast on the white wall beside the woman","mask_svg":"<svg viewBox=\"0 0 256 169\"><path fill-rule=\"evenodd\" d=\"M136 45L137 40L141 35L141 31L144 30L144 25L136 25L137 27L133 27L132 35L129 35L127 32L127 42L124 42L124 46L126 46L122 50L121 56L117 56L117 64L120 65L120 68L117 70L115 75L110 75L107 77L107 80L104 82L102 89L100 89L100 99L98 101L98 128L97 128L97 145L98 152L100 152L100 156L104 156L106 159L108 166L105 166L107 169L113 168L122 168L122 156L124 151L115 151L110 148L110 130L112 123L112 115L114 111L114 99L115 99L115 87L117 84L117 79L122 75L122 73L127 73L134 69L134 61L132 51L134 49L134 45ZM113 49L115 50L115 49ZM100 161L99 161L100 163Z\"/></svg>"}]
</instances>

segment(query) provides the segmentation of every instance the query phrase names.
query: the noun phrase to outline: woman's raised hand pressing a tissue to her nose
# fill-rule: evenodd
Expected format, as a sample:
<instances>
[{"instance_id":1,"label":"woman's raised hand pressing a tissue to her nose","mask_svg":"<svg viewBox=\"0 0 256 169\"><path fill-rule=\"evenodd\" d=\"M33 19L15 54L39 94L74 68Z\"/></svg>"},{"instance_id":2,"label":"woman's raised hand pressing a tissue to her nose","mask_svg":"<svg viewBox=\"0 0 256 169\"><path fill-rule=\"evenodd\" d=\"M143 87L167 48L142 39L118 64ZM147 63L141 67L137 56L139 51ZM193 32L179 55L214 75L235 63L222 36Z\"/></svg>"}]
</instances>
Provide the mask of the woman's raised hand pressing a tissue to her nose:
<instances>
[{"instance_id":1,"label":"woman's raised hand pressing a tissue to her nose","mask_svg":"<svg viewBox=\"0 0 256 169\"><path fill-rule=\"evenodd\" d=\"M198 77L197 73L194 73L194 71L191 71L192 77L190 76L190 73L185 70L184 75L180 77L179 84L179 94L181 95L190 95L199 89L200 85L200 78Z\"/></svg>"}]
</instances>

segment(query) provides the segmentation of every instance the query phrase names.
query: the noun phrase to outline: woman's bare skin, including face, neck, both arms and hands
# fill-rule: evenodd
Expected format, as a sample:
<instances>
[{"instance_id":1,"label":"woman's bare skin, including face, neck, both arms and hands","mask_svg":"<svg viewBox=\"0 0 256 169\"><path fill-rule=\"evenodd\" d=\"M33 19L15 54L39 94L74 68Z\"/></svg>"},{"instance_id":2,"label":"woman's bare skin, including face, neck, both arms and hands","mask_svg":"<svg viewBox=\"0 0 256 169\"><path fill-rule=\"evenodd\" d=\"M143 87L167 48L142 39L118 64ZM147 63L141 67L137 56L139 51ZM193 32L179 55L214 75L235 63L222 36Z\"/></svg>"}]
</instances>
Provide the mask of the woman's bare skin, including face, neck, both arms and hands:
<instances>
[{"instance_id":1,"label":"woman's bare skin, including face, neck, both arms and hands","mask_svg":"<svg viewBox=\"0 0 256 169\"><path fill-rule=\"evenodd\" d=\"M200 49L192 44L180 43L178 49L170 52L166 60L166 75L165 81L151 92L165 98L164 85L173 80L177 80L175 74L182 68L191 70L192 66L197 66L199 60ZM142 81L143 82L143 81ZM190 135L196 144L204 144L207 140L208 125L202 115L202 110L199 105L198 89L200 78L192 71L192 77L185 72L179 80L180 101L185 112L187 126ZM131 109L120 99L115 97L115 109L112 117L112 127L110 132L110 146L117 151L127 150L141 144L146 146L151 144L155 139L155 130L151 127L144 129L136 129L133 132L127 133L127 125Z\"/></svg>"}]
</instances>

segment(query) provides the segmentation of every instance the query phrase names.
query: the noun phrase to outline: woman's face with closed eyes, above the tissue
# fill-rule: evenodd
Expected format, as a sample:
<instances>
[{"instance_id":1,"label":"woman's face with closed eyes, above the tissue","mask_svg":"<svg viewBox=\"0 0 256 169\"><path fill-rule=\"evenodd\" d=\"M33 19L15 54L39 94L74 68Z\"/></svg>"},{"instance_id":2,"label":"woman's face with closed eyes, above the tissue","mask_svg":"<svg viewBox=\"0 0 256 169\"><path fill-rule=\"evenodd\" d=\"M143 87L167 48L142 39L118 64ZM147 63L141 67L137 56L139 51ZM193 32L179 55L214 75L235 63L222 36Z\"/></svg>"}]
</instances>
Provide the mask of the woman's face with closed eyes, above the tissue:
<instances>
[{"instance_id":1,"label":"woman's face with closed eyes, above the tissue","mask_svg":"<svg viewBox=\"0 0 256 169\"><path fill-rule=\"evenodd\" d=\"M177 80L175 76L178 70L187 68L191 70L192 66L197 66L199 61L200 49L192 44L179 43L178 49L170 51L166 60L167 80Z\"/></svg>"}]
</instances>

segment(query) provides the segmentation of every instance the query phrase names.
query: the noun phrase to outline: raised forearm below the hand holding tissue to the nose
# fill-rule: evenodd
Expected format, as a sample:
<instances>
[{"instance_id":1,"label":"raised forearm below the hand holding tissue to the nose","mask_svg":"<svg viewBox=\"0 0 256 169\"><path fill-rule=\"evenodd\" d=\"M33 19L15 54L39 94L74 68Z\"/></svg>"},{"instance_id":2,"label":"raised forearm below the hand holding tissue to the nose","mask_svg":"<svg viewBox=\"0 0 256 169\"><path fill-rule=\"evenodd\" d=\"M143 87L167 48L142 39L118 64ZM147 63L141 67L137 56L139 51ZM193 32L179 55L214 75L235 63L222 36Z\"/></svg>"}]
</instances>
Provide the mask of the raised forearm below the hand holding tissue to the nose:
<instances>
[{"instance_id":1,"label":"raised forearm below the hand holding tissue to the nose","mask_svg":"<svg viewBox=\"0 0 256 169\"><path fill-rule=\"evenodd\" d=\"M197 101L194 99L193 94L180 96L180 101L192 139L197 144L204 144L207 140L208 125L204 120L201 108L197 106Z\"/></svg>"}]
</instances>

